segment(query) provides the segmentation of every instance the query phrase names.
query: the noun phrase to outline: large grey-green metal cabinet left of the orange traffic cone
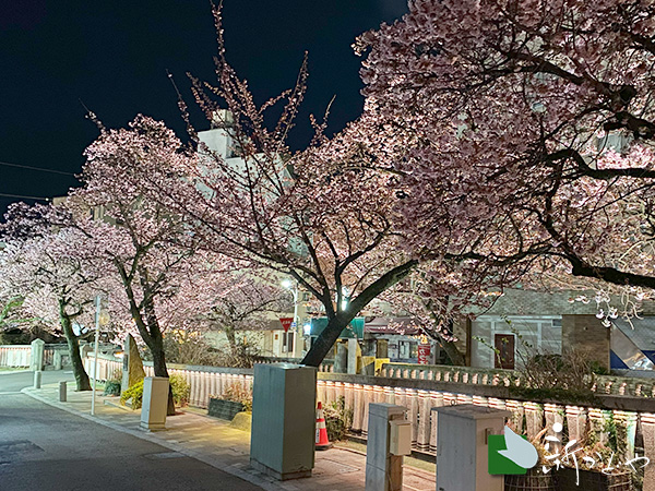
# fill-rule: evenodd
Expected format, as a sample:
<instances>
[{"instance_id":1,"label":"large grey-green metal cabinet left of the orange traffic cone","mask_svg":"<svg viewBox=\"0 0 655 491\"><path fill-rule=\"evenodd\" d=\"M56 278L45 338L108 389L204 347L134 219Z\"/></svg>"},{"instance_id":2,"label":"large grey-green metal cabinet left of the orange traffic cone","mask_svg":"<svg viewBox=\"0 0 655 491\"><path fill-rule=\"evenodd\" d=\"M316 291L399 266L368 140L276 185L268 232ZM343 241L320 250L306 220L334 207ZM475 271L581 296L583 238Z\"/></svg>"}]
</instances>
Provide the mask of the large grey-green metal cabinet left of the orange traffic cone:
<instances>
[{"instance_id":1,"label":"large grey-green metal cabinet left of the orange traffic cone","mask_svg":"<svg viewBox=\"0 0 655 491\"><path fill-rule=\"evenodd\" d=\"M317 369L255 364L250 465L279 480L311 476Z\"/></svg>"}]
</instances>

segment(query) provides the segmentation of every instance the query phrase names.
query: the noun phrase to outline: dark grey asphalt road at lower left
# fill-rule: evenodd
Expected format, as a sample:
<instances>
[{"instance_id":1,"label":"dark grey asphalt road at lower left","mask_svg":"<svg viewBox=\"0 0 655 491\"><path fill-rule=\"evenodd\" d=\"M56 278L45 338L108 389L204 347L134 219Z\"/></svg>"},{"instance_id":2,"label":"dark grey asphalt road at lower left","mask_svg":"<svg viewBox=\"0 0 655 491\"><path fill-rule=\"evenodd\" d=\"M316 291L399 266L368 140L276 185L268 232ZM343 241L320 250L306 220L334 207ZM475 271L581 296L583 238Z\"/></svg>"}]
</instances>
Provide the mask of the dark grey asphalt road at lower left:
<instances>
[{"instance_id":1,"label":"dark grey asphalt road at lower left","mask_svg":"<svg viewBox=\"0 0 655 491\"><path fill-rule=\"evenodd\" d=\"M43 383L72 380L44 372ZM0 373L0 491L261 491L182 454L20 393L32 372Z\"/></svg>"}]
</instances>

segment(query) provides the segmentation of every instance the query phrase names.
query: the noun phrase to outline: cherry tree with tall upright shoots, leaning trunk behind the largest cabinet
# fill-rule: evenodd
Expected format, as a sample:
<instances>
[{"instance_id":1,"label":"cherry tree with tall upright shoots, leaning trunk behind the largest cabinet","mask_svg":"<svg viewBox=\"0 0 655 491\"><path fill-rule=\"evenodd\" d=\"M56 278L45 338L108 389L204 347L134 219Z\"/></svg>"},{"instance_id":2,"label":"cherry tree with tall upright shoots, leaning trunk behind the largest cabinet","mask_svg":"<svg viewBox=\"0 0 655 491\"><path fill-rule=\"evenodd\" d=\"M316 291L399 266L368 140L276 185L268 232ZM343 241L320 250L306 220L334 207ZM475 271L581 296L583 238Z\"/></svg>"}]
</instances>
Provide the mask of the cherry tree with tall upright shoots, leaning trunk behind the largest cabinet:
<instances>
[{"instance_id":1,"label":"cherry tree with tall upright shoots, leaning trunk behind the largest cabinet","mask_svg":"<svg viewBox=\"0 0 655 491\"><path fill-rule=\"evenodd\" d=\"M214 14L218 85L192 77L193 91L241 158L223 158L200 143L180 98L201 165L188 169L174 191L159 185L151 199L187 216L203 248L291 276L317 298L329 322L302 362L318 366L358 312L418 261L400 247L391 177L361 165L369 158L368 136L353 125L327 141L325 123L312 118L314 141L291 153L286 141L305 94L306 64L294 88L257 105L226 62L219 8ZM281 117L269 128L264 115L277 104ZM221 118L221 105L235 124ZM156 184L148 179L145 187Z\"/></svg>"}]
</instances>

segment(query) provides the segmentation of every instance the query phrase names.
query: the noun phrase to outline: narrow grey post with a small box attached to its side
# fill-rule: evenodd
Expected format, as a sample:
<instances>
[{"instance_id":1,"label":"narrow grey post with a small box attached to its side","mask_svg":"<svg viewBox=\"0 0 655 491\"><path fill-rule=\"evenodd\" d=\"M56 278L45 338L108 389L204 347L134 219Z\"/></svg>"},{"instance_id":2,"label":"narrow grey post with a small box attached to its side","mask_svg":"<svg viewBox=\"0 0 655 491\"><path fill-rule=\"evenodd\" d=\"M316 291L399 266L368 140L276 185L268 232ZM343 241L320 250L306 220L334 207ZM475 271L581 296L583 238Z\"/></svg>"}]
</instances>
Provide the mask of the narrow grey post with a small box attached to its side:
<instances>
[{"instance_id":1,"label":"narrow grey post with a small box attached to its side","mask_svg":"<svg viewBox=\"0 0 655 491\"><path fill-rule=\"evenodd\" d=\"M401 491L403 456L392 455L391 421L403 421L406 408L393 404L369 405L368 443L366 446L366 490ZM407 435L409 435L407 431ZM408 445L406 445L408 446Z\"/></svg>"}]
</instances>

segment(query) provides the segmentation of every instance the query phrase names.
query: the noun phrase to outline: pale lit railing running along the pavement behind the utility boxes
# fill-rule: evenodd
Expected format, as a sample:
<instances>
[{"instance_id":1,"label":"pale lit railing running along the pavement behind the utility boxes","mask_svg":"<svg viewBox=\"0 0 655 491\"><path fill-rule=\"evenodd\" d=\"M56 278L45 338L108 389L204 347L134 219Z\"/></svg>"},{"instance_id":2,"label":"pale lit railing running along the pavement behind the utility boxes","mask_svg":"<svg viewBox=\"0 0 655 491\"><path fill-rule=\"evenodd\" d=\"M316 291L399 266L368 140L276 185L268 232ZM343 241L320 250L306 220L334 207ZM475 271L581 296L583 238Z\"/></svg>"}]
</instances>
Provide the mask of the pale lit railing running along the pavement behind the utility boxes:
<instances>
[{"instance_id":1,"label":"pale lit railing running along the pavement behind the utility boxes","mask_svg":"<svg viewBox=\"0 0 655 491\"><path fill-rule=\"evenodd\" d=\"M84 360L85 367L93 375L93 358ZM122 362L111 357L98 359L98 379L110 378ZM152 366L144 367L148 375L153 374ZM211 395L221 395L226 386L234 383L251 384L252 370L229 369L216 367L170 366L169 374L183 376L191 385L190 404L206 408ZM338 380L342 379L342 380ZM323 404L337 403L342 397L347 410L353 411L352 430L366 438L368 429L368 407L370 403L390 403L408 409L407 419L412 422L412 446L414 450L434 454L437 446L437 429L433 419L434 407L457 404L474 404L476 406L508 410L516 428L525 428L528 438L535 436L544 428L551 428L555 422L567 422L569 439L580 440L587 429L598 435L598 441L606 439L607 421L611 418L616 424L626 428L627 441L624 448L634 450L635 435L640 432L653 434L653 448L646 448L646 455L655 458L655 407L643 410L609 410L607 408L581 407L567 404L540 404L536 402L515 400L489 395L475 395L475 392L464 394L444 391L444 381L439 390L428 390L426 383L412 387L410 381L395 381L376 376L341 375L319 373L317 397ZM425 379L424 379L425 380ZM401 382L401 381L398 381ZM418 381L417 381L418 382ZM448 383L448 382L446 382ZM386 384L386 385L383 385ZM429 383L428 383L429 384ZM455 387L456 385L456 387ZM502 384L501 384L502 385ZM474 385L469 385L473 387ZM498 387L499 390L501 387ZM453 390L462 392L462 384L453 381ZM623 396L626 397L626 396ZM629 397L627 397L629 398ZM638 428L638 422L641 422ZM645 441L645 439L644 439ZM646 445L645 445L646 446Z\"/></svg>"}]
</instances>

